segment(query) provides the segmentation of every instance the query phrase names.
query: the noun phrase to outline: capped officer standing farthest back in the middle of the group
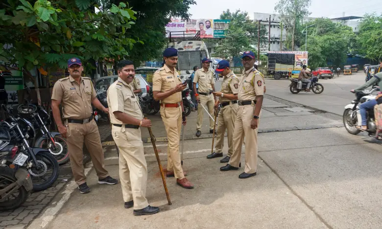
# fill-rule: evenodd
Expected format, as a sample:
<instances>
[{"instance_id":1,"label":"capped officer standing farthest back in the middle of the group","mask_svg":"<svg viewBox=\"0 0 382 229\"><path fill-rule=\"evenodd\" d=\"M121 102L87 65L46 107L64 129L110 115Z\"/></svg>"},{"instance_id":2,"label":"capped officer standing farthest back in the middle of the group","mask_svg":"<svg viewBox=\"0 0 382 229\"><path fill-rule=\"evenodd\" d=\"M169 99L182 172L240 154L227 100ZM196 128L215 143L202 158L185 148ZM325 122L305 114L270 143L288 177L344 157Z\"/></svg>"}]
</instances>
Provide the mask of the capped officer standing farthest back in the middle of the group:
<instances>
[{"instance_id":1,"label":"capped officer standing farthest back in the middle of the group","mask_svg":"<svg viewBox=\"0 0 382 229\"><path fill-rule=\"evenodd\" d=\"M205 108L208 107L208 112L213 117L214 116L214 104L216 98L212 92L215 92L215 80L214 72L210 70L210 65L212 61L208 58L202 60L202 67L195 71L195 76L193 77L193 92L195 93L196 102L200 101L200 104ZM196 83L199 85L199 92L196 91ZM203 123L203 112L204 109L198 109L198 118L196 121L196 137L200 137L202 134L200 129ZM214 120L210 120L210 134L214 133Z\"/></svg>"}]
</instances>

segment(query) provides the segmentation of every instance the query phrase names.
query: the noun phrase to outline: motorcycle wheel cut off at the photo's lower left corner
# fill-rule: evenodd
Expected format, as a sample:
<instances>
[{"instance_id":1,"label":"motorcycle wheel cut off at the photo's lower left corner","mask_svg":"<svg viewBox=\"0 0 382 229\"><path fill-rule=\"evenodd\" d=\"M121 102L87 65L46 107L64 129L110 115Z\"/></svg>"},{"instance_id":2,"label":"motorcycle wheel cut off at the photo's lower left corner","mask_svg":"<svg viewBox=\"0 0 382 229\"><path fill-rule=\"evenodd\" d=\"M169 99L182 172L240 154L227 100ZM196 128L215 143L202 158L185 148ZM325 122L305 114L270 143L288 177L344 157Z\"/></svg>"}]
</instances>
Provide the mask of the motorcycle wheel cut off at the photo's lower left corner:
<instances>
[{"instance_id":1,"label":"motorcycle wheel cut off at the photo's lower left corner","mask_svg":"<svg viewBox=\"0 0 382 229\"><path fill-rule=\"evenodd\" d=\"M0 190L6 188L7 186L15 183L17 181L15 177L15 170L11 169L7 166L0 167ZM3 193L5 196L7 193ZM0 196L1 200L2 196ZM19 187L15 192L13 192L10 196L5 200L0 201L0 211L7 211L16 209L28 198L28 192L25 190L24 186Z\"/></svg>"}]
</instances>

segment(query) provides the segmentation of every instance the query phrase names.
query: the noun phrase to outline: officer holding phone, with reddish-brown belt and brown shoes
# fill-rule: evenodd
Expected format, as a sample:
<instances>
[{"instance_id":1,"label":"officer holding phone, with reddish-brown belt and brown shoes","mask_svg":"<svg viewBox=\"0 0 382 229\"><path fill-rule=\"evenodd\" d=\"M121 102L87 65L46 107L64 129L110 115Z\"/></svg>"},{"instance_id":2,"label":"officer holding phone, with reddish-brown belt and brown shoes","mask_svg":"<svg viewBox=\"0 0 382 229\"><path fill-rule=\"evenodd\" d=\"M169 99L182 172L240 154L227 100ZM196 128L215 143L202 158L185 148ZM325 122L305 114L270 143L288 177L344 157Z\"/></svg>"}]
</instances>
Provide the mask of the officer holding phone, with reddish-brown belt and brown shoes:
<instances>
[{"instance_id":1,"label":"officer holding phone, with reddish-brown belt and brown shoes","mask_svg":"<svg viewBox=\"0 0 382 229\"><path fill-rule=\"evenodd\" d=\"M167 147L167 177L175 177L176 183L184 188L193 188L193 184L185 178L180 155L179 142L183 125L186 125L186 115L183 108L182 91L187 84L182 84L178 71L178 50L167 48L163 52L165 65L158 69L153 76L153 95L156 101L160 100L160 112L165 124Z\"/></svg>"}]
</instances>

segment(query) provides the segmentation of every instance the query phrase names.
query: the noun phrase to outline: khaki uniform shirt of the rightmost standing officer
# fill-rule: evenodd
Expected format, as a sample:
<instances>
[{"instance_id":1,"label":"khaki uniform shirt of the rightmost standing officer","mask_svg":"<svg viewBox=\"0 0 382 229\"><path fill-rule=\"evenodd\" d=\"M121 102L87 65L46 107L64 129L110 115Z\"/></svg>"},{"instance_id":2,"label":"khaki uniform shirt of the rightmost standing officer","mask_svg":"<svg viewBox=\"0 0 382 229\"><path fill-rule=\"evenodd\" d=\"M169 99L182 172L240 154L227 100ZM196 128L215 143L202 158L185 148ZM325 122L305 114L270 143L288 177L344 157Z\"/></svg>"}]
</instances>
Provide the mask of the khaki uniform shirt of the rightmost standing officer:
<instances>
[{"instance_id":1,"label":"khaki uniform shirt of the rightmost standing officer","mask_svg":"<svg viewBox=\"0 0 382 229\"><path fill-rule=\"evenodd\" d=\"M256 95L264 94L264 78L260 74L260 71L255 68L251 68L243 72L243 78L239 84L238 99L256 100Z\"/></svg>"}]
</instances>

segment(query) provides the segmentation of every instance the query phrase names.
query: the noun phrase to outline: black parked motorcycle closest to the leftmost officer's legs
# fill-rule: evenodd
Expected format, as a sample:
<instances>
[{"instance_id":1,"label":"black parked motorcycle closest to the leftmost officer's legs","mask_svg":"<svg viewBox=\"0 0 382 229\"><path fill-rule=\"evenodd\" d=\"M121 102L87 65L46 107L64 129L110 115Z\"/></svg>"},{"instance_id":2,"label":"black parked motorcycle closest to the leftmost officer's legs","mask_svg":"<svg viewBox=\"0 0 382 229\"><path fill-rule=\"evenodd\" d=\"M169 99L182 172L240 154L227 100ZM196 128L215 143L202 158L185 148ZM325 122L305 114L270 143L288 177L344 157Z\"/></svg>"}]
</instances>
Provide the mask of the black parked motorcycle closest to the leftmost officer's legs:
<instances>
[{"instance_id":1,"label":"black parked motorcycle closest to the leftmost officer's legs","mask_svg":"<svg viewBox=\"0 0 382 229\"><path fill-rule=\"evenodd\" d=\"M59 164L69 161L69 151L66 139L58 132L49 132L50 115L41 106L23 104L17 108L18 115L32 123L36 136L30 142L34 147L47 149Z\"/></svg>"}]
</instances>

